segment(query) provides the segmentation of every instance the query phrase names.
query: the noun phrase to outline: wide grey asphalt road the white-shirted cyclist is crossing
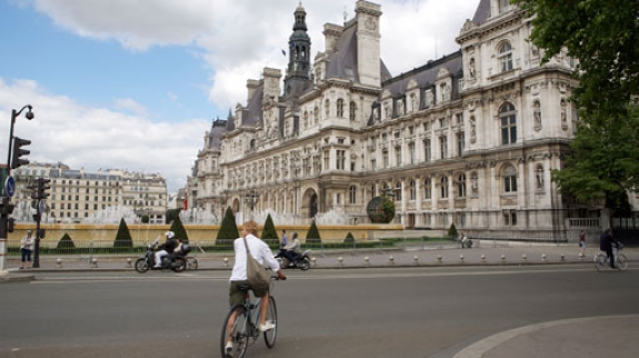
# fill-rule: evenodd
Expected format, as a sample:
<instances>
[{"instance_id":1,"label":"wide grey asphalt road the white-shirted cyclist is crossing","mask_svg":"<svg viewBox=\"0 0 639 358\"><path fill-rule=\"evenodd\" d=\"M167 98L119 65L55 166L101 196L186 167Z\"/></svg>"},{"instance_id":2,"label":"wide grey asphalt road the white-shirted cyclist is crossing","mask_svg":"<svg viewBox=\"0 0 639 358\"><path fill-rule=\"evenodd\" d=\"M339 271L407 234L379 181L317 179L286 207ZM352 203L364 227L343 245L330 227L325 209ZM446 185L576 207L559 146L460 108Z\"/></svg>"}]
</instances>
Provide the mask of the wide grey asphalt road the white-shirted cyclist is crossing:
<instances>
[{"instance_id":1,"label":"wide grey asphalt road the white-shirted cyclist is crossing","mask_svg":"<svg viewBox=\"0 0 639 358\"><path fill-rule=\"evenodd\" d=\"M508 329L639 314L639 270L590 263L288 271L247 357L452 357ZM0 286L0 357L219 357L224 271L41 274Z\"/></svg>"}]
</instances>

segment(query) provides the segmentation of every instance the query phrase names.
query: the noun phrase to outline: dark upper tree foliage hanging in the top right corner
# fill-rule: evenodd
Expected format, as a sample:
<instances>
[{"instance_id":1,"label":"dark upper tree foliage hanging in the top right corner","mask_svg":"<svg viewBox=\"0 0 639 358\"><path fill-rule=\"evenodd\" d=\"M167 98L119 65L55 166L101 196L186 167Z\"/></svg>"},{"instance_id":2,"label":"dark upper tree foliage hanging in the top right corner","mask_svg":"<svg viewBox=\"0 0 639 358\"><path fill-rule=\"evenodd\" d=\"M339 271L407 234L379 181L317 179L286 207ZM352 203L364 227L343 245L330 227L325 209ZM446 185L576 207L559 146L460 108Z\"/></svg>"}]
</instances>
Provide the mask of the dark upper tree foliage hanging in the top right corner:
<instances>
[{"instance_id":1,"label":"dark upper tree foliage hanging in the top right corner","mask_svg":"<svg viewBox=\"0 0 639 358\"><path fill-rule=\"evenodd\" d=\"M532 42L548 61L562 49L578 60L580 108L625 117L639 91L639 2L511 0L531 17ZM619 116L612 116L617 118Z\"/></svg>"}]
</instances>

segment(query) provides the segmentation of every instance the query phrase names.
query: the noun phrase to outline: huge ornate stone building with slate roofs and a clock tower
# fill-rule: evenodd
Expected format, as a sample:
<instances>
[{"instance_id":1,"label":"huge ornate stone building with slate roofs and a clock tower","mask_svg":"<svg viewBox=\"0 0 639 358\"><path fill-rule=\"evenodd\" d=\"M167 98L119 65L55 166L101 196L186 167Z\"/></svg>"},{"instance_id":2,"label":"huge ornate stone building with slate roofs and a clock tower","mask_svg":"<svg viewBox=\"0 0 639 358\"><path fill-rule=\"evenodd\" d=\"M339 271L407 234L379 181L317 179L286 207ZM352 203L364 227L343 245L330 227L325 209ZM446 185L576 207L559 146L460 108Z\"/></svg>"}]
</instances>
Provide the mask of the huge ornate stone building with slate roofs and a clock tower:
<instances>
[{"instance_id":1,"label":"huge ornate stone building with slate roofs and a clock tower","mask_svg":"<svg viewBox=\"0 0 639 358\"><path fill-rule=\"evenodd\" d=\"M247 81L246 105L204 136L189 201L217 216L352 225L386 193L406 228L567 238L571 217L597 215L550 180L578 120L572 60L541 64L520 9L478 2L459 51L398 77L380 58L379 4L357 1L353 19L325 24L312 62L300 4L283 88L278 69Z\"/></svg>"}]
</instances>

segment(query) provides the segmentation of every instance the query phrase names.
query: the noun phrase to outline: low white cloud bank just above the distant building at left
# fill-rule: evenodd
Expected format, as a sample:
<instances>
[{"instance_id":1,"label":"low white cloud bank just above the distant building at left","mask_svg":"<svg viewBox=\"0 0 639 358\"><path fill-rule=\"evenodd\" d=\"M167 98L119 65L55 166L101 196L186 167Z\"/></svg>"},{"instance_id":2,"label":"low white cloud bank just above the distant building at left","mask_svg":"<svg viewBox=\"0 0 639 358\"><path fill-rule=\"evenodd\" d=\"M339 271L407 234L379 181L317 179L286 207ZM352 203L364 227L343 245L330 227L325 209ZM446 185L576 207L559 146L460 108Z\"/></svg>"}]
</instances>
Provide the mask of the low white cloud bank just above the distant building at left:
<instances>
[{"instance_id":1,"label":"low white cloud bank just above the distant building at left","mask_svg":"<svg viewBox=\"0 0 639 358\"><path fill-rule=\"evenodd\" d=\"M14 136L31 140L31 161L61 161L94 171L118 168L157 172L167 179L171 191L186 183L202 146L200 138L210 126L203 119L153 122L51 95L33 81L6 83L0 78L0 118L10 118L11 110L19 109L13 106L24 98L33 106L36 118L18 118ZM0 127L0 138L8 137L9 125ZM0 148L0 158L6 158L7 149Z\"/></svg>"}]
</instances>

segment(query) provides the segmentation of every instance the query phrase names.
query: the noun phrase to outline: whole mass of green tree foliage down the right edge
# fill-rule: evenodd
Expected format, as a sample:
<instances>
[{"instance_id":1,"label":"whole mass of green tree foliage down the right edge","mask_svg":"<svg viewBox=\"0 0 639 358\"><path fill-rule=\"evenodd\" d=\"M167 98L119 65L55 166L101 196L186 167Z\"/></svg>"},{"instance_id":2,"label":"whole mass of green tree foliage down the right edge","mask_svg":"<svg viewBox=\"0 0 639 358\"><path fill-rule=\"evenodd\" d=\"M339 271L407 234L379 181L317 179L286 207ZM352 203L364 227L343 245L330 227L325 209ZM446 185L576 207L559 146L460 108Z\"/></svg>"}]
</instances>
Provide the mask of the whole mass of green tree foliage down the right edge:
<instances>
[{"instance_id":1,"label":"whole mass of green tree foliage down the right edge","mask_svg":"<svg viewBox=\"0 0 639 358\"><path fill-rule=\"evenodd\" d=\"M530 40L543 61L563 49L578 60L572 101L580 123L566 167L552 180L580 200L605 199L629 212L628 190L639 188L639 2L511 0L531 17Z\"/></svg>"}]
</instances>

